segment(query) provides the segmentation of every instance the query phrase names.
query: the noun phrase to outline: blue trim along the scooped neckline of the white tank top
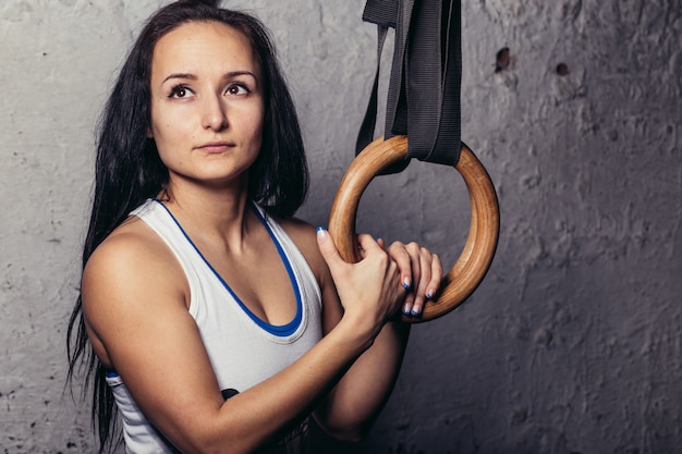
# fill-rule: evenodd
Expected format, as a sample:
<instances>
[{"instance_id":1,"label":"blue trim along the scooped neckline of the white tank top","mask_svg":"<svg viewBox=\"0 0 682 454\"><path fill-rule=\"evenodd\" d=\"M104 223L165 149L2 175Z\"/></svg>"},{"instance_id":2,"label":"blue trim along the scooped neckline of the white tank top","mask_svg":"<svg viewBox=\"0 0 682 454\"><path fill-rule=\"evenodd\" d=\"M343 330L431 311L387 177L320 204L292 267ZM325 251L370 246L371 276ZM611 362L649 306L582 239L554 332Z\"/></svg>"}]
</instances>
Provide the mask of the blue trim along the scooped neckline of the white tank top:
<instances>
[{"instance_id":1,"label":"blue trim along the scooped neckline of the white tank top","mask_svg":"<svg viewBox=\"0 0 682 454\"><path fill-rule=\"evenodd\" d=\"M222 286L224 286L224 289L230 293L230 295L232 295L232 297L234 298L236 304L239 304L239 306L242 308L242 310L254 322L256 322L256 324L258 324L260 328L263 328L265 331L269 332L270 334L273 334L273 335L277 335L277 336L280 336L280 338L285 338L285 336L292 335L293 333L296 332L296 330L301 326L301 320L303 319L303 303L301 300L301 289L299 287L299 281L296 281L296 277L295 277L295 274L293 272L293 269L291 267L291 262L289 261L289 257L284 253L284 249L282 248L279 240L277 238L277 236L275 236L275 233L270 229L270 225L268 225L267 221L260 214L260 211L256 208L254 203L252 203L251 207L254 210L254 212L256 213L256 216L258 217L258 219L260 220L260 223L265 226L266 231L270 235L270 238L272 238L272 243L275 243L275 246L277 247L277 251L279 253L279 256L282 259L282 263L284 265L284 268L287 269L287 273L289 274L289 280L291 281L291 285L292 285L292 287L294 290L294 294L296 296L296 315L294 316L293 320L291 320L287 324L281 324L281 326L270 324L270 323L261 320L254 312L252 312L251 309L248 309L248 307L246 307L246 305L240 299L240 297L236 296L236 294L234 293L232 287L230 287L230 285L224 281L224 279L222 279L222 277L218 273L218 271L216 271L216 269L210 265L210 262L206 259L206 257L204 257L204 254L202 254L199 248L196 247L196 245L194 244L192 238L190 238L190 235L187 235L187 233L182 228L182 225L180 225L180 222L178 222L178 220L175 219L173 213L170 212L168 207L166 205L163 205L163 203L161 200L157 199L157 198L153 198L153 200L156 201L157 204L159 204L161 207L163 207L166 212L168 212L168 214L173 220L175 225L178 225L178 229L180 229L180 232L182 232L182 234L187 240L190 245L194 248L194 250L196 250L196 253L199 255L202 260L204 260L206 266L212 271L214 275L216 275L216 278L218 278L218 280L220 281Z\"/></svg>"}]
</instances>

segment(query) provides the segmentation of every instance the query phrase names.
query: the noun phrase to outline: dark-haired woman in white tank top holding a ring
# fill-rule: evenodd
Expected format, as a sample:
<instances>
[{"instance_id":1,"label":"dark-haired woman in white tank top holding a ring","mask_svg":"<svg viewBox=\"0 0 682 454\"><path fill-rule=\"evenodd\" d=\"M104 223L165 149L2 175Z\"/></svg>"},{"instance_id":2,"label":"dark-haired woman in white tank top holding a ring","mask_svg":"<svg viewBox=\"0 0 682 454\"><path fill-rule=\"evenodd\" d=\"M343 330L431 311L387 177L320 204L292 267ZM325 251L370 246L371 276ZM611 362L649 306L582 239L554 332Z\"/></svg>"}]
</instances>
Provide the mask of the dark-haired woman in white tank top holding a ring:
<instances>
[{"instance_id":1,"label":"dark-haired woman in white tank top holding a ring","mask_svg":"<svg viewBox=\"0 0 682 454\"><path fill-rule=\"evenodd\" d=\"M293 102L265 28L215 3L150 17L102 116L69 330L100 451L117 409L131 453L302 452L309 415L357 440L402 360L392 317L440 284L414 243L358 235L350 265L291 218L307 189Z\"/></svg>"}]
</instances>

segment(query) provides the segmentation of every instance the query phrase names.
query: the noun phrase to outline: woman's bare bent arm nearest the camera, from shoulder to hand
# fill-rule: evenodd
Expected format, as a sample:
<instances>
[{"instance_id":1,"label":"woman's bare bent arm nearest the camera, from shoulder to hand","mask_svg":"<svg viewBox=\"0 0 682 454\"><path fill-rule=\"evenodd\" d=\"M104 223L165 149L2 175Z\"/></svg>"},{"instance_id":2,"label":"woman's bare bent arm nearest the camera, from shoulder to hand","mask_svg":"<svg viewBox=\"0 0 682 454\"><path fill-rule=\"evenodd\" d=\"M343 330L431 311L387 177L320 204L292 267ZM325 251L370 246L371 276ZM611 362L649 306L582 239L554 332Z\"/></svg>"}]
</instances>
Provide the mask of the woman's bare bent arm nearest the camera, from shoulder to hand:
<instances>
[{"instance_id":1,"label":"woman's bare bent arm nearest the camera, from shoulder to hand","mask_svg":"<svg viewBox=\"0 0 682 454\"><path fill-rule=\"evenodd\" d=\"M307 416L404 298L397 263L374 240L363 246L362 265L337 267L348 304L333 329L292 366L228 401L187 312L186 279L159 241L113 235L88 260L82 291L93 345L180 450L251 452Z\"/></svg>"}]
</instances>

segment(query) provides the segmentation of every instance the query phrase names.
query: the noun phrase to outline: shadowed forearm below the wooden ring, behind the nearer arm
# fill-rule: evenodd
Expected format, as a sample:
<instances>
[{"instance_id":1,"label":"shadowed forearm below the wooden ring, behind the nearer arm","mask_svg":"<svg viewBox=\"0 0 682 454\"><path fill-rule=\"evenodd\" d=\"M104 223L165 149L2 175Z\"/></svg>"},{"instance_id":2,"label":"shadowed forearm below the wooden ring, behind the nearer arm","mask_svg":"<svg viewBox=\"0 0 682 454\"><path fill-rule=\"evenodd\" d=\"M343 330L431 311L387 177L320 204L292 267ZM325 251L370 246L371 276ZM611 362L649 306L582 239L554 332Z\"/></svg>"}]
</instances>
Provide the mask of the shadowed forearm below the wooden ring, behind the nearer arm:
<instances>
[{"instance_id":1,"label":"shadowed forearm below the wooden ring, behind the nearer arm","mask_svg":"<svg viewBox=\"0 0 682 454\"><path fill-rule=\"evenodd\" d=\"M395 384L409 336L407 323L383 327L320 405L316 416L325 430L350 440L365 435Z\"/></svg>"}]
</instances>

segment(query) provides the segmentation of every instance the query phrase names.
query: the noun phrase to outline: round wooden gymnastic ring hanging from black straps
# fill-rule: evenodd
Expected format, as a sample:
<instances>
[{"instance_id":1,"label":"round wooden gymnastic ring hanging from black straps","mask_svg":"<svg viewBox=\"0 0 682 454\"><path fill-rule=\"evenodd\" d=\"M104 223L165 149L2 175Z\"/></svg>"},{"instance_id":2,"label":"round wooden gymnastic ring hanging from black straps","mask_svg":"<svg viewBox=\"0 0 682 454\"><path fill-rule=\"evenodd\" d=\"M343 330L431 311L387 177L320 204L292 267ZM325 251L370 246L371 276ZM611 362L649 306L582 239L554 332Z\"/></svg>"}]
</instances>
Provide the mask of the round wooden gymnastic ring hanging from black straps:
<instances>
[{"instance_id":1,"label":"round wooden gymnastic ring hanging from black straps","mask_svg":"<svg viewBox=\"0 0 682 454\"><path fill-rule=\"evenodd\" d=\"M407 138L378 138L369 144L349 167L329 216L329 233L341 257L357 262L355 219L360 198L372 180L386 167L405 159ZM454 168L466 184L471 201L471 225L466 243L452 269L444 275L441 287L424 306L421 317L402 316L406 322L423 322L441 317L462 304L488 272L495 256L500 231L497 194L488 172L473 151L462 144Z\"/></svg>"}]
</instances>

